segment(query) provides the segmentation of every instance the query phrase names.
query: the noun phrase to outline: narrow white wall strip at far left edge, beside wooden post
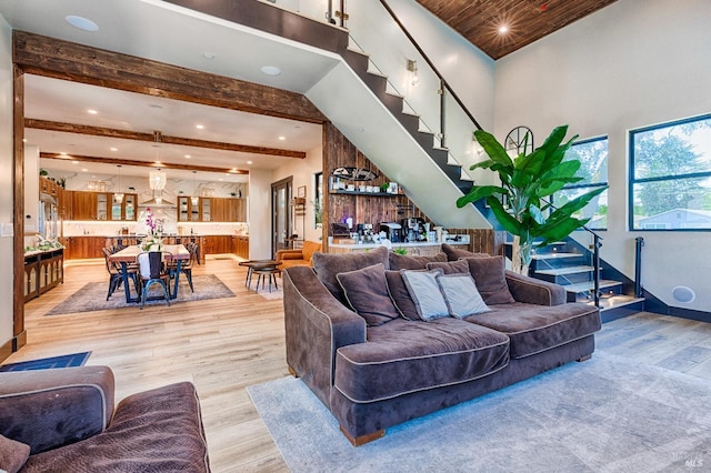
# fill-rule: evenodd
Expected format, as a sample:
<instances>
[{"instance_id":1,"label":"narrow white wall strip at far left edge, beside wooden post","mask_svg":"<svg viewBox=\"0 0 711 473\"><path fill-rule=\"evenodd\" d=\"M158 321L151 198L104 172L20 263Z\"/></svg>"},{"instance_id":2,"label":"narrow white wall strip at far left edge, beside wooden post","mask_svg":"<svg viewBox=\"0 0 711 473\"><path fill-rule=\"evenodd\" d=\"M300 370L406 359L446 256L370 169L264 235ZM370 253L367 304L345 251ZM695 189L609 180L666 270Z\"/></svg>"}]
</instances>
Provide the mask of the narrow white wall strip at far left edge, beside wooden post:
<instances>
[{"instance_id":1,"label":"narrow white wall strip at far left edge, beside wooden post","mask_svg":"<svg viewBox=\"0 0 711 473\"><path fill-rule=\"evenodd\" d=\"M0 346L12 340L12 245L13 239L6 230L13 222L13 167L12 167L12 31L0 16L0 261L6 271L0 278ZM22 238L22 235L18 235Z\"/></svg>"}]
</instances>

